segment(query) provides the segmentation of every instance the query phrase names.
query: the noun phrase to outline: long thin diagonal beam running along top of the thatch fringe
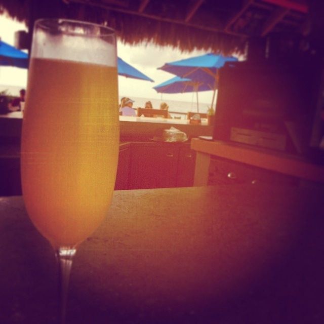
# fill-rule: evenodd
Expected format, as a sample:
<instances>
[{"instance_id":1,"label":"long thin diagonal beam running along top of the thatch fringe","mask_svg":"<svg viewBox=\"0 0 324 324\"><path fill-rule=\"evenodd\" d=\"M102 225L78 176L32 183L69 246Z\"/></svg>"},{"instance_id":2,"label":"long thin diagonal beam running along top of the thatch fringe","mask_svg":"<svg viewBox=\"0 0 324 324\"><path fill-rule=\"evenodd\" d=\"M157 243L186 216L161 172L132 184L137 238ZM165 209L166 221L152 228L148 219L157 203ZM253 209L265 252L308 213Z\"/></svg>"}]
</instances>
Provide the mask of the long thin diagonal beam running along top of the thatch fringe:
<instances>
[{"instance_id":1,"label":"long thin diagonal beam running along top of the thatch fringe","mask_svg":"<svg viewBox=\"0 0 324 324\"><path fill-rule=\"evenodd\" d=\"M138 11L134 11L134 10L130 10L130 9L112 7L112 6L104 5L103 3L97 3L97 2L94 2L91 0L69 0L69 2L84 4L84 5L88 5L88 6L92 6L92 7L98 7L98 8L102 8L105 10L121 12L124 14L144 17L144 18L153 19L153 20L157 20L157 21L163 21L163 22L169 22L169 23L178 24L178 25L184 25L184 26L188 26L188 27L192 27L192 28L196 28L196 29L200 29L200 30L212 31L212 32L233 35L233 36L238 36L238 37L243 37L243 38L248 37L247 34L243 34L243 33L233 32L230 30L225 31L223 29L219 29L219 28L215 28L215 27L192 24L190 22L185 22L184 20L176 20L176 19L172 19L172 18L159 17L159 16L150 15L150 14L140 13Z\"/></svg>"}]
</instances>

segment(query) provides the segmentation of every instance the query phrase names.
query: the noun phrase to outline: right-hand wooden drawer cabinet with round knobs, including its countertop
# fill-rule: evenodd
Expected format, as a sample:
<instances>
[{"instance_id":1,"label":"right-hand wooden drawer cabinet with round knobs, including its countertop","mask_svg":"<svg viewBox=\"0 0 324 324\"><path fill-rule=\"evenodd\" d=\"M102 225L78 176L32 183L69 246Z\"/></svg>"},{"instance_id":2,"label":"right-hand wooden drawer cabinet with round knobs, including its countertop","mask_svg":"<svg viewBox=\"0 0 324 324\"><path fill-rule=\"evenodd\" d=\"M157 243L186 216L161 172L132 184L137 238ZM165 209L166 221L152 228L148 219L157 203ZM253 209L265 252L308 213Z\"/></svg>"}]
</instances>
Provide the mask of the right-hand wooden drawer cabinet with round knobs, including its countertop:
<instances>
[{"instance_id":1,"label":"right-hand wooden drawer cabinet with round knobs, including its countertop","mask_svg":"<svg viewBox=\"0 0 324 324\"><path fill-rule=\"evenodd\" d=\"M257 184L322 187L324 166L303 156L224 141L191 140L196 151L194 186Z\"/></svg>"}]
</instances>

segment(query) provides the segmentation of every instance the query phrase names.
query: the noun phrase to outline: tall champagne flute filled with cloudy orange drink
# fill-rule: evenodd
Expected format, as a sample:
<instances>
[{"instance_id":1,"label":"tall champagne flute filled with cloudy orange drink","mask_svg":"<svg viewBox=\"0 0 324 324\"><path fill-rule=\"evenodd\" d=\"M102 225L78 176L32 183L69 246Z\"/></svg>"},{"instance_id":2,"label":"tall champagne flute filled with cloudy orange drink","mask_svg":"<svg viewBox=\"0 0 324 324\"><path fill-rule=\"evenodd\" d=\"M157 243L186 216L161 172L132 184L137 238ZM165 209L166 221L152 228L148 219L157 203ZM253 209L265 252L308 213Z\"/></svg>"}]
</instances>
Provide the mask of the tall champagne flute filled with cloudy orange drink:
<instances>
[{"instance_id":1,"label":"tall champagne flute filled with cloudy orange drink","mask_svg":"<svg viewBox=\"0 0 324 324\"><path fill-rule=\"evenodd\" d=\"M119 143L116 37L79 21L35 22L21 143L27 213L56 251L60 320L77 246L107 214Z\"/></svg>"}]
</instances>

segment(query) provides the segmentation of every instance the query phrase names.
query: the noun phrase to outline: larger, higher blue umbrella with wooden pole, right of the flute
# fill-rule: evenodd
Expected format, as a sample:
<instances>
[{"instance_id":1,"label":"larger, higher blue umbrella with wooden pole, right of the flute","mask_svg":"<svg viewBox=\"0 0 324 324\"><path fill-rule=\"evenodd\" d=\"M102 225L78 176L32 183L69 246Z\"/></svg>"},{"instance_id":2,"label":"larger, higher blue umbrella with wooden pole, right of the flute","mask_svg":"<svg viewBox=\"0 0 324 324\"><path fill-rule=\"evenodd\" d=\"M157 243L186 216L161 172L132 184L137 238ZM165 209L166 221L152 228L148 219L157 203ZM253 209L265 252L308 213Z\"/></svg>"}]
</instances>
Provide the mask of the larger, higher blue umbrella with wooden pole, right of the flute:
<instances>
[{"instance_id":1,"label":"larger, higher blue umbrella with wooden pole, right of the flute","mask_svg":"<svg viewBox=\"0 0 324 324\"><path fill-rule=\"evenodd\" d=\"M224 66L226 62L235 62L237 58L226 57L213 53L191 57L188 59L166 63L159 67L180 77L190 78L194 81L200 81L211 85L214 90L212 106L214 103L215 92L218 83L218 69Z\"/></svg>"}]
</instances>

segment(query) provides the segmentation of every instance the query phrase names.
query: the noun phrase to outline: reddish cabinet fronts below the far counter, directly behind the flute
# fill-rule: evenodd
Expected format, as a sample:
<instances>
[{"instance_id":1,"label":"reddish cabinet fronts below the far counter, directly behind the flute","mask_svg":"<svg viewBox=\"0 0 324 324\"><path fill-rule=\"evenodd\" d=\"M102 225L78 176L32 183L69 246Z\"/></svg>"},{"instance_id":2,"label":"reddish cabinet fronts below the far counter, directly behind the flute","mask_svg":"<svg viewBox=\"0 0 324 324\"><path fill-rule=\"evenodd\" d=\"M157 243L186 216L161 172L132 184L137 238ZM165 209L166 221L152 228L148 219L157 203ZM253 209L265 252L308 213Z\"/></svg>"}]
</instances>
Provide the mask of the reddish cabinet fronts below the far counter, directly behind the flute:
<instances>
[{"instance_id":1,"label":"reddish cabinet fronts below the far counter, directly behind the flute","mask_svg":"<svg viewBox=\"0 0 324 324\"><path fill-rule=\"evenodd\" d=\"M189 143L121 143L115 190L192 186L195 156ZM0 196L21 194L20 157L0 158Z\"/></svg>"}]
</instances>

